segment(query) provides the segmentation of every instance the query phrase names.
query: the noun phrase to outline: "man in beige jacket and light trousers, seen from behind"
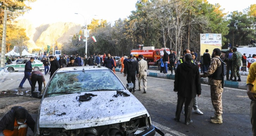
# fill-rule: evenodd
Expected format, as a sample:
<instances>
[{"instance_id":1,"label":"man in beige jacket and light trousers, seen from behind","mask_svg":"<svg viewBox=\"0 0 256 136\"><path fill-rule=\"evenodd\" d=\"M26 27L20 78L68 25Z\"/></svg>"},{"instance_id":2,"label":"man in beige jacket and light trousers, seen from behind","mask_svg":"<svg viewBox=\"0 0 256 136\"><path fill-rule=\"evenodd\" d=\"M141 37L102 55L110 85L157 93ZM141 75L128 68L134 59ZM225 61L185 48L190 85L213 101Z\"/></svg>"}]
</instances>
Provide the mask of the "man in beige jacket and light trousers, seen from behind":
<instances>
[{"instance_id":1,"label":"man in beige jacket and light trousers, seen from behind","mask_svg":"<svg viewBox=\"0 0 256 136\"><path fill-rule=\"evenodd\" d=\"M143 81L144 92L147 92L147 61L143 59L143 55L139 55L139 91L141 91L141 79Z\"/></svg>"}]
</instances>

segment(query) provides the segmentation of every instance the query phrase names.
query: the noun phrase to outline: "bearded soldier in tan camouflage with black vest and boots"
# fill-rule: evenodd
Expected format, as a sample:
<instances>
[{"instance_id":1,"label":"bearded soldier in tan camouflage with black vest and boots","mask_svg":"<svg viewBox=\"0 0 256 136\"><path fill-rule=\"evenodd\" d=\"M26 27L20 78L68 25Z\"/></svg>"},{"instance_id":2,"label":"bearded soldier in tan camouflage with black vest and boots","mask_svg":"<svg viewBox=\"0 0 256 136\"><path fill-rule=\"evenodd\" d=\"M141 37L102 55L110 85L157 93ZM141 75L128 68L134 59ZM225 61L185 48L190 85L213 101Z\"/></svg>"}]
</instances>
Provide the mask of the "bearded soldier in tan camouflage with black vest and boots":
<instances>
[{"instance_id":1,"label":"bearded soldier in tan camouflage with black vest and boots","mask_svg":"<svg viewBox=\"0 0 256 136\"><path fill-rule=\"evenodd\" d=\"M208 76L208 85L211 86L211 99L212 105L215 109L215 116L211 117L211 123L222 123L222 92L223 86L221 85L224 77L222 76L222 65L220 61L221 51L219 48L215 48L212 53L212 61L208 68L208 71L204 72L201 77ZM220 75L221 74L221 75ZM221 78L221 79L220 79Z\"/></svg>"}]
</instances>

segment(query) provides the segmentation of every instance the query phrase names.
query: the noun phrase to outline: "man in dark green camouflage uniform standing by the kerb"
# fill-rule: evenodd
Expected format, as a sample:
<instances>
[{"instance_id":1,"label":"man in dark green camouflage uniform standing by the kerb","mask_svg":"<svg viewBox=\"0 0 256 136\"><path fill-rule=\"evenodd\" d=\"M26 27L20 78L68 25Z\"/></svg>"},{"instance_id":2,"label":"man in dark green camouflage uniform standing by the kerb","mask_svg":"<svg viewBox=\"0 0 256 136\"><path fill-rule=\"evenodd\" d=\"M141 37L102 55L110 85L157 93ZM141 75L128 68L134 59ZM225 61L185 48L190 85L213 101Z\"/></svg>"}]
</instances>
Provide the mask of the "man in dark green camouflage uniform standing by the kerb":
<instances>
[{"instance_id":1,"label":"man in dark green camouflage uniform standing by the kerb","mask_svg":"<svg viewBox=\"0 0 256 136\"><path fill-rule=\"evenodd\" d=\"M242 61L242 54L240 52L237 51L237 47L233 47L233 55L231 57L231 59L229 59L230 61L232 61L232 72L233 73L233 77L234 77L234 82L240 82L241 78L240 78L240 74L239 74L239 68L241 66L241 61ZM237 80L238 77L238 80Z\"/></svg>"}]
</instances>

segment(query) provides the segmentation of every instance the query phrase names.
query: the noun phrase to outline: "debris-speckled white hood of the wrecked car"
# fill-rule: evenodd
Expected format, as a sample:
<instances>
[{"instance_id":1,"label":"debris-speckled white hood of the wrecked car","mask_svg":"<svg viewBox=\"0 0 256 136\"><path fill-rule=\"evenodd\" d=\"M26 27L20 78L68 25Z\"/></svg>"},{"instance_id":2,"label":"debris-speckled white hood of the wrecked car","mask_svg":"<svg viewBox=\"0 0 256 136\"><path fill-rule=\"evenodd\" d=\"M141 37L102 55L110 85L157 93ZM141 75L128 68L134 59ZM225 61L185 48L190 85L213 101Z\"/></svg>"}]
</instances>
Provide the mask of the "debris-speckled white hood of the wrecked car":
<instances>
[{"instance_id":1,"label":"debris-speckled white hood of the wrecked car","mask_svg":"<svg viewBox=\"0 0 256 136\"><path fill-rule=\"evenodd\" d=\"M130 96L113 97L116 91L87 92L97 95L90 101L79 102L74 93L46 97L40 106L39 127L79 129L129 121L147 114L145 107L129 91Z\"/></svg>"}]
</instances>

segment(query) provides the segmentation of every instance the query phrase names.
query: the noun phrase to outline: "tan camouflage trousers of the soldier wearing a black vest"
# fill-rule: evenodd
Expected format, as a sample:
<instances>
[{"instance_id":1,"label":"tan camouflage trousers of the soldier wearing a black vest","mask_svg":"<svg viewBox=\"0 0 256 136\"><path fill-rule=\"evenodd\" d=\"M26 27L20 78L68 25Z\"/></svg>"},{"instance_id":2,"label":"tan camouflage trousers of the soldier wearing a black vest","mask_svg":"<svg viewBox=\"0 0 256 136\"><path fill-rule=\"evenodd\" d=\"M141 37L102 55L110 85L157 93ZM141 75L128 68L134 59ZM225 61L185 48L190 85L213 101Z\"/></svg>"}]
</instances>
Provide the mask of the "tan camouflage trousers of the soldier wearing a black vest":
<instances>
[{"instance_id":1,"label":"tan camouflage trousers of the soldier wearing a black vest","mask_svg":"<svg viewBox=\"0 0 256 136\"><path fill-rule=\"evenodd\" d=\"M221 86L211 85L211 99L212 105L215 110L215 115L219 116L222 112L222 92Z\"/></svg>"}]
</instances>

